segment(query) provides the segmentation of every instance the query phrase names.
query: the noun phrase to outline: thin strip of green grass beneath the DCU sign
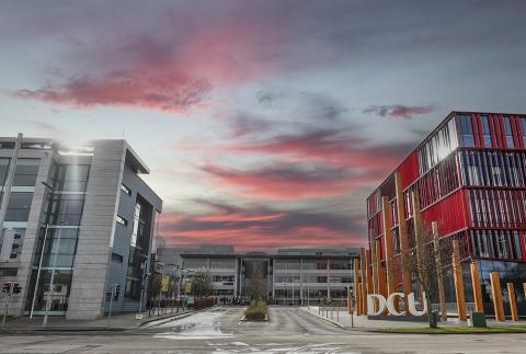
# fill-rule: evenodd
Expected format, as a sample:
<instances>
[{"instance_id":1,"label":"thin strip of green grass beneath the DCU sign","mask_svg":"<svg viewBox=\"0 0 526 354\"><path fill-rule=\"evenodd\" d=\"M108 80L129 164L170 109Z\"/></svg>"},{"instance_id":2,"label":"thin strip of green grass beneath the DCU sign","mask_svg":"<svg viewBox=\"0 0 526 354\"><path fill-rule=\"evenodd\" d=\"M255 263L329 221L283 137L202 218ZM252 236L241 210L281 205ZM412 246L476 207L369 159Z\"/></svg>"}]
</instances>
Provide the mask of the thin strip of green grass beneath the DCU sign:
<instances>
[{"instance_id":1,"label":"thin strip of green grass beneath the DCU sign","mask_svg":"<svg viewBox=\"0 0 526 354\"><path fill-rule=\"evenodd\" d=\"M526 333L526 326L492 326L488 328L473 328L460 326L447 326L438 328L426 327L402 327L402 328L386 328L379 330L380 332L397 332L397 333L426 333L426 334L455 334L455 333Z\"/></svg>"}]
</instances>

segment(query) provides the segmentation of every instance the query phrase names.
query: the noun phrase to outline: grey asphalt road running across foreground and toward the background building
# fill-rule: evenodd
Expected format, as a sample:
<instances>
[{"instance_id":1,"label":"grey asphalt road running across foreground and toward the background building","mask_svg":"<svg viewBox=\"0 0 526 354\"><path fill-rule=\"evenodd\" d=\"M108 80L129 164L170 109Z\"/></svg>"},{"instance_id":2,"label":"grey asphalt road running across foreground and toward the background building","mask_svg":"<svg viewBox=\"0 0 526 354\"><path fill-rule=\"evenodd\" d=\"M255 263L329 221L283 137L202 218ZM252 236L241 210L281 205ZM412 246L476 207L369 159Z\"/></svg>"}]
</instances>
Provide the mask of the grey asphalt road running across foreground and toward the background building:
<instances>
[{"instance_id":1,"label":"grey asphalt road running across foreground and toward the background building","mask_svg":"<svg viewBox=\"0 0 526 354\"><path fill-rule=\"evenodd\" d=\"M241 322L242 308L108 335L9 335L0 353L524 353L526 335L382 334L340 329L298 308L272 307L268 323Z\"/></svg>"}]
</instances>

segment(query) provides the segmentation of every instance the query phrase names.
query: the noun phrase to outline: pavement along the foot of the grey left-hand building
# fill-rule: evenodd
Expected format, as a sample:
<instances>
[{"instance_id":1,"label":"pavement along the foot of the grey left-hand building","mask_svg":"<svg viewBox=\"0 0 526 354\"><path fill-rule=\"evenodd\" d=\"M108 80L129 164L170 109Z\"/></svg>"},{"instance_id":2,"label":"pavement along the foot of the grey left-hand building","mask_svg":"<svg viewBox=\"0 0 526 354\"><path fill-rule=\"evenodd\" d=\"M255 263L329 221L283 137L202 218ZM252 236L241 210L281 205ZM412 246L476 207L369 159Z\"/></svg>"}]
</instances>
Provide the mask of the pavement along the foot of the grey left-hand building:
<instances>
[{"instance_id":1,"label":"pavement along the foot of the grey left-hand building","mask_svg":"<svg viewBox=\"0 0 526 354\"><path fill-rule=\"evenodd\" d=\"M142 312L144 319L136 320L135 312L133 313L117 313L112 315L112 318L107 320L107 316L96 320L67 320L64 317L49 317L47 326L43 327L44 318L42 316L34 317L31 320L28 317L19 317L5 322L5 328L0 329L1 333L18 333L22 334L25 332L89 332L89 331L110 331L118 332L126 331L134 328L141 327L146 323L158 321L162 319L176 318L180 316L188 316L195 312L195 310L180 310L179 313L171 309L167 309L167 313L159 316L148 317L148 311Z\"/></svg>"}]
</instances>

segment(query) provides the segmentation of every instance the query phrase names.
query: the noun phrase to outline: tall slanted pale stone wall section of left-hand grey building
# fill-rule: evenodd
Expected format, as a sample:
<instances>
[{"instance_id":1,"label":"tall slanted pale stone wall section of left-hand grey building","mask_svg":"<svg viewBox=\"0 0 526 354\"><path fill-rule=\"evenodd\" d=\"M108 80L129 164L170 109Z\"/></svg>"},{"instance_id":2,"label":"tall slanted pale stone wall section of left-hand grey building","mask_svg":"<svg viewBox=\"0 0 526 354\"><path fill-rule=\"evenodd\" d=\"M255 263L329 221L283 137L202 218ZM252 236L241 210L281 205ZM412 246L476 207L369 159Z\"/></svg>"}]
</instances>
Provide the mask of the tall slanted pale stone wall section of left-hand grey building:
<instances>
[{"instance_id":1,"label":"tall slanted pale stone wall section of left-hand grey building","mask_svg":"<svg viewBox=\"0 0 526 354\"><path fill-rule=\"evenodd\" d=\"M67 319L102 315L125 156L124 140L101 140L94 147Z\"/></svg>"}]
</instances>

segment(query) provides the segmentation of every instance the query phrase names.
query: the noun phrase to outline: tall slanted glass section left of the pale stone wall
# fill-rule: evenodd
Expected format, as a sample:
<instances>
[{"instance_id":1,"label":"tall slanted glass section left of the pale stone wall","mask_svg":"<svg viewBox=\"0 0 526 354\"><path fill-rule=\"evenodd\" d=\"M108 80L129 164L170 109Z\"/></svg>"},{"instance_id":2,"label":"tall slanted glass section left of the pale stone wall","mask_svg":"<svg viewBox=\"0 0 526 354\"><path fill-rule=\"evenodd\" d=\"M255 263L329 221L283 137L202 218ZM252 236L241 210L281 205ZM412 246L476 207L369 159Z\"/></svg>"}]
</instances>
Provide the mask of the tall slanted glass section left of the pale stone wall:
<instances>
[{"instance_id":1,"label":"tall slanted glass section left of the pale stone wall","mask_svg":"<svg viewBox=\"0 0 526 354\"><path fill-rule=\"evenodd\" d=\"M44 315L46 306L52 316L64 316L68 309L89 170L88 164L54 164L52 168L53 191L47 189L41 214L26 313L32 309L41 254L34 315Z\"/></svg>"}]
</instances>

